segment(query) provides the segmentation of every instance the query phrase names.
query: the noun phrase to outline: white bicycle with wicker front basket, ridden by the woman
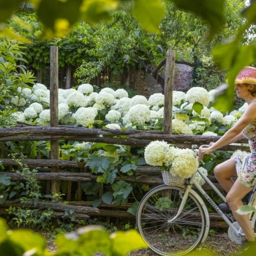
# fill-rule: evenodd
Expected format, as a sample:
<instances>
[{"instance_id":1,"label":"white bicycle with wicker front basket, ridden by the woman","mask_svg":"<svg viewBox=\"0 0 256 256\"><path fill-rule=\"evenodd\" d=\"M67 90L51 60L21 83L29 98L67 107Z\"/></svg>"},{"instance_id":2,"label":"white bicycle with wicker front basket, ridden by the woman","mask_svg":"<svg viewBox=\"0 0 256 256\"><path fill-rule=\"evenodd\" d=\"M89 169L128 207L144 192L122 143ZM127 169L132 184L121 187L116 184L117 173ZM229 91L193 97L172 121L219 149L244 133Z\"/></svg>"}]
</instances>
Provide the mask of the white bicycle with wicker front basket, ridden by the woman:
<instances>
[{"instance_id":1,"label":"white bicycle with wicker front basket, ridden by the woman","mask_svg":"<svg viewBox=\"0 0 256 256\"><path fill-rule=\"evenodd\" d=\"M196 153L195 145L192 146L192 149ZM225 196L206 175L201 170L197 170L197 172L227 203ZM163 171L165 184L151 189L140 201L136 214L138 231L149 248L158 255L185 255L206 241L210 228L208 209L200 195L192 189L192 185L195 185L198 192L208 200L229 225L230 240L236 244L242 244L245 240L243 230L234 221L232 214L224 214L195 181L196 173L192 177L184 179L171 176L169 171ZM253 193L249 198L249 206L256 206L255 199L256 193ZM249 217L252 228L255 230L256 214L250 214Z\"/></svg>"}]
</instances>

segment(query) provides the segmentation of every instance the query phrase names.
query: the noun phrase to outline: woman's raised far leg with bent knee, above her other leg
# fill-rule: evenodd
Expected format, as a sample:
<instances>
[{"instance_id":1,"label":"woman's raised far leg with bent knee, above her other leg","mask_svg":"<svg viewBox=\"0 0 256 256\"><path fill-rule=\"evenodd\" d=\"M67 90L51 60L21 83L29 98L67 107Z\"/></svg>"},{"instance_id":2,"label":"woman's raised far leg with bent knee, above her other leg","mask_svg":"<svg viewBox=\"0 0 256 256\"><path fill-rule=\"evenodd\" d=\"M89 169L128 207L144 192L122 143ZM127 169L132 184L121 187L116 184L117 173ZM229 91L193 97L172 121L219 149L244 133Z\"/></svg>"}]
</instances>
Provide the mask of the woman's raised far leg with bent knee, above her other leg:
<instances>
[{"instance_id":1,"label":"woman's raised far leg with bent knee, above her other leg","mask_svg":"<svg viewBox=\"0 0 256 256\"><path fill-rule=\"evenodd\" d=\"M231 178L237 176L235 159L231 158L217 165L214 168L214 175L223 189L225 189L226 192L229 192L234 184L234 181Z\"/></svg>"}]
</instances>

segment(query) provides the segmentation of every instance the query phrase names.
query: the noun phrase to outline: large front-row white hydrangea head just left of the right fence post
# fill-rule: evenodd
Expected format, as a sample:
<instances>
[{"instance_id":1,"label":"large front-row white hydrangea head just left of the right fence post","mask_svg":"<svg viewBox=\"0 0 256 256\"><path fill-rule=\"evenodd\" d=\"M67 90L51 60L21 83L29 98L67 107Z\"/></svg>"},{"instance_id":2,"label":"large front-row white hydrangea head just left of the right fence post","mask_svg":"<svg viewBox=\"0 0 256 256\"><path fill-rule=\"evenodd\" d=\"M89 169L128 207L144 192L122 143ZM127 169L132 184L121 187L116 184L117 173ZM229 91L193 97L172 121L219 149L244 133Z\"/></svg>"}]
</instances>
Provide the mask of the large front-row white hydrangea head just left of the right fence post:
<instances>
[{"instance_id":1,"label":"large front-row white hydrangea head just left of the right fence post","mask_svg":"<svg viewBox=\"0 0 256 256\"><path fill-rule=\"evenodd\" d=\"M148 106L138 104L129 109L127 117L133 124L145 124L150 121L150 110Z\"/></svg>"}]
</instances>

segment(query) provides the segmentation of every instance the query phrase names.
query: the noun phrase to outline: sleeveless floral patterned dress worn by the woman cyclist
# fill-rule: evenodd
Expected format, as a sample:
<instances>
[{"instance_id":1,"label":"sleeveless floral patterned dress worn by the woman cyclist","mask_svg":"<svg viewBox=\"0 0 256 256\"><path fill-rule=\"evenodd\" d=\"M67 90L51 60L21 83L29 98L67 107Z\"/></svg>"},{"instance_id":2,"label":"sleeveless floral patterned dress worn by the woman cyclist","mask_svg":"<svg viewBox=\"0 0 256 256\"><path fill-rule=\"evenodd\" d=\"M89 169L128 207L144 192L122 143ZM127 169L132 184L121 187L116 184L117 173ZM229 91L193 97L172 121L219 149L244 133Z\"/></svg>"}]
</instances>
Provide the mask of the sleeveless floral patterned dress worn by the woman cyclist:
<instances>
[{"instance_id":1,"label":"sleeveless floral patterned dress worn by the woman cyclist","mask_svg":"<svg viewBox=\"0 0 256 256\"><path fill-rule=\"evenodd\" d=\"M244 157L236 156L236 172L238 178L246 187L256 187L256 121L252 121L243 129L243 135L249 140L251 154Z\"/></svg>"}]
</instances>

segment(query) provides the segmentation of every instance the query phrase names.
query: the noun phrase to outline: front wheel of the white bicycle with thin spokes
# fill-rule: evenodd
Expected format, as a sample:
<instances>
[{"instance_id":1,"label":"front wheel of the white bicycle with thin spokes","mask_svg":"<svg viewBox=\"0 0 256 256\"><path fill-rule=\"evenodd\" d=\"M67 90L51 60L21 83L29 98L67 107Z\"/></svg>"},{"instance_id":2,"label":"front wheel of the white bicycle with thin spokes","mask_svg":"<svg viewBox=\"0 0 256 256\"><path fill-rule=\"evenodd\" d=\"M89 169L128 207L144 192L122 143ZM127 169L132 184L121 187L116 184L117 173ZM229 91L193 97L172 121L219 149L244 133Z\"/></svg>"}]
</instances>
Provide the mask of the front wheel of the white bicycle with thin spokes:
<instances>
[{"instance_id":1,"label":"front wheel of the white bicycle with thin spokes","mask_svg":"<svg viewBox=\"0 0 256 256\"><path fill-rule=\"evenodd\" d=\"M184 255L200 244L206 232L206 214L189 193L184 209L176 216L185 190L161 185L149 191L137 211L140 235L158 255Z\"/></svg>"}]
</instances>

